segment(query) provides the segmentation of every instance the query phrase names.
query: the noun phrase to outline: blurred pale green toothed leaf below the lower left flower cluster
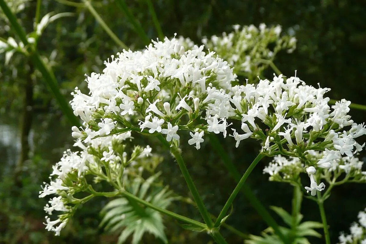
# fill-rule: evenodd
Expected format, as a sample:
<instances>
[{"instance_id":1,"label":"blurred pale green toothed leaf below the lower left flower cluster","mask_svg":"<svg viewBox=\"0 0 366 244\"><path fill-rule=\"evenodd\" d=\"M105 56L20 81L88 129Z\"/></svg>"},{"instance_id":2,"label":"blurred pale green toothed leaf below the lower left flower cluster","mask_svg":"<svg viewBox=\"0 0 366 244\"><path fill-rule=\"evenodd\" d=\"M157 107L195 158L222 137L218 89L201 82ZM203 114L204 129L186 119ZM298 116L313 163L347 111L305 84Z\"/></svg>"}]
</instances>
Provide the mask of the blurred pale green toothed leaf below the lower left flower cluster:
<instances>
[{"instance_id":1,"label":"blurred pale green toothed leaf below the lower left flower cluster","mask_svg":"<svg viewBox=\"0 0 366 244\"><path fill-rule=\"evenodd\" d=\"M160 173L157 173L146 180L137 177L130 182L125 181L125 188L131 194L166 209L174 199L173 192L167 187L155 185L159 176ZM164 243L168 243L161 214L153 209L142 207L132 199L114 199L102 209L101 214L104 217L100 226L104 226L105 230L115 232L123 229L118 238L119 244L125 243L131 234L133 235L132 243L137 244L144 233L151 233Z\"/></svg>"}]
</instances>

